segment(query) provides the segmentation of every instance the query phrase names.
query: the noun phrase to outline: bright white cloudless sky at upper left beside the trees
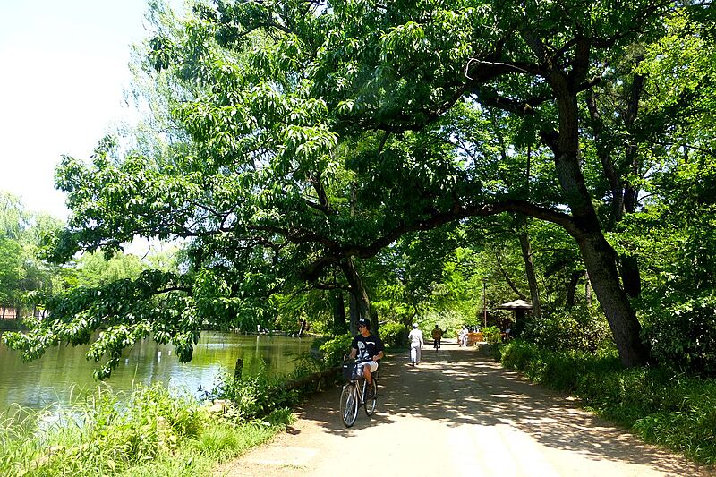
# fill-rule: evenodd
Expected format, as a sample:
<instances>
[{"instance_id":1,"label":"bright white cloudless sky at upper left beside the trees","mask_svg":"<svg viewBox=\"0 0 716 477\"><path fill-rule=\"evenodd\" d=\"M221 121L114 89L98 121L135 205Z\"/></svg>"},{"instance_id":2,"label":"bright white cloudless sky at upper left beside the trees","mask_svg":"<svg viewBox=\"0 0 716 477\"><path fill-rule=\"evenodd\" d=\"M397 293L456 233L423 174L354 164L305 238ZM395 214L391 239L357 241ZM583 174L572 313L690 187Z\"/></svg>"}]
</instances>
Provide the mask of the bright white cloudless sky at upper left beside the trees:
<instances>
[{"instance_id":1,"label":"bright white cloudless sky at upper left beside the trees","mask_svg":"<svg viewBox=\"0 0 716 477\"><path fill-rule=\"evenodd\" d=\"M174 3L174 2L173 2ZM0 191L64 219L63 155L89 160L124 103L146 0L0 0Z\"/></svg>"}]
</instances>

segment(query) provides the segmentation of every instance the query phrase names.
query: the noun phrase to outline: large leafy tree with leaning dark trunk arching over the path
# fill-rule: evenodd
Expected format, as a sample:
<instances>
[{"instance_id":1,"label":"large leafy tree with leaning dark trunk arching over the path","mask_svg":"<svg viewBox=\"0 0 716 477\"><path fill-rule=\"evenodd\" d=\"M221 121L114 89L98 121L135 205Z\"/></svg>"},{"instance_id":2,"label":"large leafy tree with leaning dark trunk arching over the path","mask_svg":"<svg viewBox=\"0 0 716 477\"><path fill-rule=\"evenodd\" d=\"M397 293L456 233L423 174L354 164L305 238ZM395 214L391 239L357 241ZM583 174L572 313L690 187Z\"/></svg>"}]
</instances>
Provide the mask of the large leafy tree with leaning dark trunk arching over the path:
<instances>
[{"instance_id":1,"label":"large leafy tree with leaning dark trunk arching over the path","mask_svg":"<svg viewBox=\"0 0 716 477\"><path fill-rule=\"evenodd\" d=\"M191 357L203 324L253 323L271 294L337 286L336 270L370 312L355 260L404 234L515 212L573 237L622 362L643 363L604 231L636 209L625 204L651 158L625 145L641 131L641 97L613 99L623 118L608 98L649 80L635 51L669 35L668 19L711 8L217 0L182 21L157 8L148 65L183 134L161 155L115 160L106 141L90 165L65 158L57 185L72 217L53 256L181 237L186 273L65 297L55 321L10 342L34 355L101 327L97 353L152 335ZM662 119L657 132L672 126Z\"/></svg>"}]
</instances>

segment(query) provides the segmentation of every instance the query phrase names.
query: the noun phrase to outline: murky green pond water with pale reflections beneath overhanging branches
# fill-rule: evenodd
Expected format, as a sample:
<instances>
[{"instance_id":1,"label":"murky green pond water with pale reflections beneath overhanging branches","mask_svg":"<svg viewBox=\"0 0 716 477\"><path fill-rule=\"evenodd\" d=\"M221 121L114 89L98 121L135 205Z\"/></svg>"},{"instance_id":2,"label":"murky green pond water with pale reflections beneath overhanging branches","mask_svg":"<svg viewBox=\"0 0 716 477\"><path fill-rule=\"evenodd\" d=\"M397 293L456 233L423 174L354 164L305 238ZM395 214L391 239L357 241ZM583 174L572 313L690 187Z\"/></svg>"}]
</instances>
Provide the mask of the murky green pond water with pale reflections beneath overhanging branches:
<instances>
[{"instance_id":1,"label":"murky green pond water with pale reflections beneath overhanging branches","mask_svg":"<svg viewBox=\"0 0 716 477\"><path fill-rule=\"evenodd\" d=\"M270 373L292 371L295 359L307 353L311 338L244 336L206 332L194 347L192 362L176 359L172 345L145 340L125 352L124 362L112 372L107 384L129 391L134 383L164 382L169 388L185 388L196 394L211 388L218 375L234 373L236 360L243 359L243 374L255 374L262 363ZM47 350L33 362L21 362L19 353L0 343L0 413L13 403L41 409L97 387L92 371L97 363L85 358L88 346L59 346Z\"/></svg>"}]
</instances>

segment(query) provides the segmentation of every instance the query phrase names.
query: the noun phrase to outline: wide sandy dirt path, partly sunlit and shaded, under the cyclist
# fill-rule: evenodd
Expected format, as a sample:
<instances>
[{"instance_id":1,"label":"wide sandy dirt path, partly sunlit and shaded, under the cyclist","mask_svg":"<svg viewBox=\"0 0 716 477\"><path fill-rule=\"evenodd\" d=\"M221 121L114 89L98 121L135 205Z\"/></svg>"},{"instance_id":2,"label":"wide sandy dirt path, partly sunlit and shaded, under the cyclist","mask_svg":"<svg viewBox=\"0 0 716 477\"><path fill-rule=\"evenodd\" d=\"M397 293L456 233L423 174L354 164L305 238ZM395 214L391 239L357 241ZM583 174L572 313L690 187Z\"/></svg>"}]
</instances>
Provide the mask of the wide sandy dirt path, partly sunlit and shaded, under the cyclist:
<instances>
[{"instance_id":1,"label":"wide sandy dirt path, partly sunlit and shaded, under the cyclist","mask_svg":"<svg viewBox=\"0 0 716 477\"><path fill-rule=\"evenodd\" d=\"M415 368L406 356L383 363L371 418L360 409L345 429L340 389L331 388L303 406L293 428L216 475L333 477L361 472L353 466L366 453L385 477L716 475L473 350L446 343L439 353L423 350L422 359Z\"/></svg>"}]
</instances>

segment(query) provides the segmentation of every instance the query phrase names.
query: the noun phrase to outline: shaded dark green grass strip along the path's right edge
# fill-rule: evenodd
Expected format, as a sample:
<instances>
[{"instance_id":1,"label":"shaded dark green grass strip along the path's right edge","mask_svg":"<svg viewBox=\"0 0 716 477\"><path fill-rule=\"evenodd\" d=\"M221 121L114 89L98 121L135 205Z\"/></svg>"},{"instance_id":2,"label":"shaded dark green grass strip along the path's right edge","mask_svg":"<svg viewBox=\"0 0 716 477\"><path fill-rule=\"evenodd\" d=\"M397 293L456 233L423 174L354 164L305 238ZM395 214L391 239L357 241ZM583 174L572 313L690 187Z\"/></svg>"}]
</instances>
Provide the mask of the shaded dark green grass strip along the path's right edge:
<instances>
[{"instance_id":1,"label":"shaded dark green grass strip along the path's right edge","mask_svg":"<svg viewBox=\"0 0 716 477\"><path fill-rule=\"evenodd\" d=\"M553 352L520 341L499 348L504 366L581 399L588 409L700 464L716 464L716 379L643 367L616 352Z\"/></svg>"}]
</instances>

